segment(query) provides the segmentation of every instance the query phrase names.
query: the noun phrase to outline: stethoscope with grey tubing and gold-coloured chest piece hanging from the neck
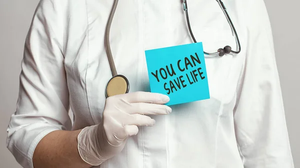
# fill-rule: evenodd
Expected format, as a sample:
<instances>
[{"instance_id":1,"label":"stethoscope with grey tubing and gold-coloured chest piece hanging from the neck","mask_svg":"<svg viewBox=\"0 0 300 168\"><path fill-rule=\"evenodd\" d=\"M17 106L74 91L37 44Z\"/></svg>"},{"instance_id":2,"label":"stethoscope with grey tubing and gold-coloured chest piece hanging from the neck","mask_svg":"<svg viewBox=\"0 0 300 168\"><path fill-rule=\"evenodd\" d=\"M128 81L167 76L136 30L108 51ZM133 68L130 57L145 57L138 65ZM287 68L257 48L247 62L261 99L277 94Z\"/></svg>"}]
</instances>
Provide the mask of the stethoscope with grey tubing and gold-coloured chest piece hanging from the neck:
<instances>
[{"instance_id":1,"label":"stethoscope with grey tubing and gold-coloured chest piece hanging from the neck","mask_svg":"<svg viewBox=\"0 0 300 168\"><path fill-rule=\"evenodd\" d=\"M239 43L238 36L237 36L236 30L234 28L234 25L233 25L229 15L228 15L227 11L226 11L226 8L225 8L223 2L221 0L216 0L216 1L219 3L220 7L222 8L222 10L223 10L223 12L224 12L224 14L227 18L227 21L230 24L231 29L234 32L235 42L236 42L236 45L238 47L238 50L233 51L231 49L231 47L227 45L224 48L219 48L217 50L217 52L214 52L214 53L204 52L204 54L205 55L212 55L212 56L213 55L223 56L224 54L229 54L229 53L238 54L240 52L240 43ZM123 75L117 74L117 72L116 72L113 57L112 57L112 54L111 54L110 43L109 43L110 26L111 26L112 18L113 18L117 3L118 3L118 0L114 0L110 15L108 17L108 21L107 21L107 25L106 25L106 29L105 29L105 36L104 36L105 48L106 48L106 52L107 52L107 58L108 58L108 61L109 61L111 72L112 72L112 78L108 81L108 83L106 85L106 88L105 88L106 98L110 97L110 96L125 94L125 93L129 92L129 81L128 81L128 79ZM191 28L190 28L186 0L183 0L183 10L185 11L185 16L186 16L186 21L187 21L187 26L188 26L189 33L192 37L193 42L196 43L197 41L196 41L195 37L193 36L193 33L191 31Z\"/></svg>"}]
</instances>

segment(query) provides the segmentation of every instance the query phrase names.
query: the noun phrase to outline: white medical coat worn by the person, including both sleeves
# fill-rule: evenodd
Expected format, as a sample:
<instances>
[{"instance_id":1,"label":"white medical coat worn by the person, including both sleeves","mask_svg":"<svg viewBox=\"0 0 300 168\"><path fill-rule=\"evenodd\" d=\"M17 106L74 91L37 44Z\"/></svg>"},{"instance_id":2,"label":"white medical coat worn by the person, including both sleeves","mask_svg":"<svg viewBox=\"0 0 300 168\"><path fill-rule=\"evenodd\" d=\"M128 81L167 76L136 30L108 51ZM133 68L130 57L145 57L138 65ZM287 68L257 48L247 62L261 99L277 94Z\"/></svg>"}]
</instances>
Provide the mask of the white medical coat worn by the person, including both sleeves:
<instances>
[{"instance_id":1,"label":"white medical coat worn by the person, including both sleeves","mask_svg":"<svg viewBox=\"0 0 300 168\"><path fill-rule=\"evenodd\" d=\"M241 52L205 56L210 99L151 116L124 150L97 168L293 168L271 27L263 0L223 0ZM98 124L111 71L104 30L113 0L41 0L21 63L7 148L32 168L37 143L54 130ZM215 0L188 0L191 28L206 52L230 45ZM191 43L181 0L120 0L110 43L130 92L149 91L144 50ZM159 60L157 60L159 61ZM71 125L69 107L74 114Z\"/></svg>"}]
</instances>

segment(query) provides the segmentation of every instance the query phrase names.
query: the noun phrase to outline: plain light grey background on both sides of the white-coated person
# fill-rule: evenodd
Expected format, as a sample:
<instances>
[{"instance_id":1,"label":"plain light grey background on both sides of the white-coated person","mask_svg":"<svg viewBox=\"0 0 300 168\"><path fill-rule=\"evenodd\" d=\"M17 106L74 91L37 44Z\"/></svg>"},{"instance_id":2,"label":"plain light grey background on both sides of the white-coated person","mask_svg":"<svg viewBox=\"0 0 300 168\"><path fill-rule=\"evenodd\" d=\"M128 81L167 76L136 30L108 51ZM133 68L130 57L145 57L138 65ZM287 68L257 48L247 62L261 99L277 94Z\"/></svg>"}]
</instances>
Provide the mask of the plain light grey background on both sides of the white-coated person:
<instances>
[{"instance_id":1,"label":"plain light grey background on both sides of the white-coated person","mask_svg":"<svg viewBox=\"0 0 300 168\"><path fill-rule=\"evenodd\" d=\"M6 127L15 110L23 45L38 0L0 0L0 168L20 168L6 149ZM265 0L273 30L287 128L295 168L300 167L299 0Z\"/></svg>"}]
</instances>

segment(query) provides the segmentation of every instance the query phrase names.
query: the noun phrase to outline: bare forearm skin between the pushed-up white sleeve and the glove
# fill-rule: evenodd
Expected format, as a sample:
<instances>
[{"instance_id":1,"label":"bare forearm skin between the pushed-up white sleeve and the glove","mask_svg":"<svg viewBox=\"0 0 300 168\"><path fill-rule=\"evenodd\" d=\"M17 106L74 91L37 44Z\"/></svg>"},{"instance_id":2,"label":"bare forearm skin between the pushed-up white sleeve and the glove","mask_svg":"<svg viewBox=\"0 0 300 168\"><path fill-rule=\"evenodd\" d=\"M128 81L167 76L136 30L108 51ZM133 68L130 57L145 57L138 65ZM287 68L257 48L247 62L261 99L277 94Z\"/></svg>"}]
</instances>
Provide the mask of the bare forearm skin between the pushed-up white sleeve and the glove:
<instances>
[{"instance_id":1,"label":"bare forearm skin between the pushed-up white sleeve and the glove","mask_svg":"<svg viewBox=\"0 0 300 168\"><path fill-rule=\"evenodd\" d=\"M90 168L77 150L80 131L53 131L46 135L34 150L34 168Z\"/></svg>"}]
</instances>

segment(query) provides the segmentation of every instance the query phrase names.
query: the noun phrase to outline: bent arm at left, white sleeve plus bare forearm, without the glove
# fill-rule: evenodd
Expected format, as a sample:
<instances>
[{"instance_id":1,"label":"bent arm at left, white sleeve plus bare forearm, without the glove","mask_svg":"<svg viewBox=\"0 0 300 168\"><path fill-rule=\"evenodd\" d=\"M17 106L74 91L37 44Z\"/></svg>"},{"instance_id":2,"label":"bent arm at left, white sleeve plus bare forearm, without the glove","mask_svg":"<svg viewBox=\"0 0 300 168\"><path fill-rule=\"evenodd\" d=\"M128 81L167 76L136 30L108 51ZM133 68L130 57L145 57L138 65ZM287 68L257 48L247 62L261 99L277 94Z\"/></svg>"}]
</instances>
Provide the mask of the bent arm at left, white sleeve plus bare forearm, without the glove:
<instances>
[{"instance_id":1,"label":"bent arm at left, white sleeve plus bare forearm, without the glove","mask_svg":"<svg viewBox=\"0 0 300 168\"><path fill-rule=\"evenodd\" d=\"M24 168L90 167L77 151L79 131L67 131L63 3L41 0L25 41L17 108L7 128L7 148Z\"/></svg>"}]
</instances>

